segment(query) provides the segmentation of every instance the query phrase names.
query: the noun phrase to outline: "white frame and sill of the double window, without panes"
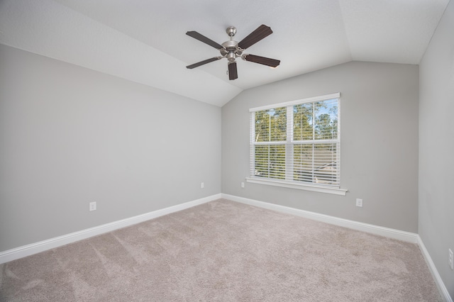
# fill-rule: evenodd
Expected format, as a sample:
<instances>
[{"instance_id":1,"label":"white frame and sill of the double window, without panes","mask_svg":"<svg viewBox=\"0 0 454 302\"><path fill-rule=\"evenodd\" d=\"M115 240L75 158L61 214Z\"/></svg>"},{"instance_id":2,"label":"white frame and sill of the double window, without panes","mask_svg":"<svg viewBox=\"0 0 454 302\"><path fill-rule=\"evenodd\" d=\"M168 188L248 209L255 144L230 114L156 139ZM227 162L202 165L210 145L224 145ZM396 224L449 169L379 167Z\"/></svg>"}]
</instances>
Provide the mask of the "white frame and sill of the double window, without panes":
<instances>
[{"instance_id":1,"label":"white frame and sill of the double window, without panes","mask_svg":"<svg viewBox=\"0 0 454 302\"><path fill-rule=\"evenodd\" d=\"M260 106L260 107L255 107L255 108L250 108L249 109L249 115L250 115L250 172L249 172L249 177L246 177L246 181L254 184L265 184L265 185L270 185L270 186L281 186L285 188L290 188L290 189L302 189L306 191L317 191L321 193L327 193L327 194L336 194L336 195L343 195L345 196L346 192L348 191L347 189L341 189L341 175L340 175L340 165L341 165L341 155L340 155L340 149L341 149L341 94L336 93L336 94L327 94L324 96L315 96L312 98L306 98L306 99L299 99L295 101L289 101L289 102L284 102L284 103L279 103L279 104L271 104L267 106ZM316 142L316 143L324 143L324 142L331 142L331 143L336 143L338 147L338 151L336 152L336 164L337 164L337 170L338 170L338 180L339 184L338 185L331 185L331 184L315 184L313 182L304 182L304 181L295 181L295 180L289 180L289 175L291 175L291 170L293 167L293 164L288 164L289 162L292 162L292 156L293 152L287 152L287 148L292 148L295 145L298 145L298 142L296 140L293 140L293 106L299 105L299 104L309 104L309 103L315 103L317 101L328 101L330 99L337 99L338 100L338 138L336 139L331 139L331 140L307 140L307 142L304 142L304 144L310 143L310 142ZM285 107L287 108L287 116L286 116L286 123L287 123L287 138L286 141L270 141L270 142L255 142L255 112L257 111L265 111L265 110L270 110L270 109L275 109L275 108L282 108ZM289 115L292 117L289 118ZM285 152L285 158L286 158L286 179L272 179L269 177L257 177L253 173L255 171L255 146L256 145L285 145L286 152Z\"/></svg>"}]
</instances>

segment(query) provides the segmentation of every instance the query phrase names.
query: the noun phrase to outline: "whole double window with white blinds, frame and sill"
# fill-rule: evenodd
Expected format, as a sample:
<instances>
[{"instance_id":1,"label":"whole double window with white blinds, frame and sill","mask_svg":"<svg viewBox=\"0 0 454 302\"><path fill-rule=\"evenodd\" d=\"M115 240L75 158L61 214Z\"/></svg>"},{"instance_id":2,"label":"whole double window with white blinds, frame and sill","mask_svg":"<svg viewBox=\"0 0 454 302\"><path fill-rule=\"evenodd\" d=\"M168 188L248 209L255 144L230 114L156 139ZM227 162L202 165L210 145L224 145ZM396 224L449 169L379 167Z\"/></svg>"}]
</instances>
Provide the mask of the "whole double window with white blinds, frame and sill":
<instances>
[{"instance_id":1,"label":"whole double window with white blinds, frame and sill","mask_svg":"<svg viewBox=\"0 0 454 302\"><path fill-rule=\"evenodd\" d=\"M339 96L251 108L247 180L345 195L340 189Z\"/></svg>"}]
</instances>

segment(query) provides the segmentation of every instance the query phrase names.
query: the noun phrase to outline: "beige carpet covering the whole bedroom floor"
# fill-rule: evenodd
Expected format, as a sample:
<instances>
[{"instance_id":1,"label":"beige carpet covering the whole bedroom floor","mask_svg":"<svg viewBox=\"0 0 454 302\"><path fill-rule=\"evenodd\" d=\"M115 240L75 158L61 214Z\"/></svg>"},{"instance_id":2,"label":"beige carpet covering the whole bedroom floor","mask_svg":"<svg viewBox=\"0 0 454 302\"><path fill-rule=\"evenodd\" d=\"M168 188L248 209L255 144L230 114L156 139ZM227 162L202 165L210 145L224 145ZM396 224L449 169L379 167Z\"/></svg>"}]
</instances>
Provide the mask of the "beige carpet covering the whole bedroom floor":
<instances>
[{"instance_id":1,"label":"beige carpet covering the whole bedroom floor","mask_svg":"<svg viewBox=\"0 0 454 302\"><path fill-rule=\"evenodd\" d=\"M218 200L0 265L1 301L442 301L417 245Z\"/></svg>"}]
</instances>

